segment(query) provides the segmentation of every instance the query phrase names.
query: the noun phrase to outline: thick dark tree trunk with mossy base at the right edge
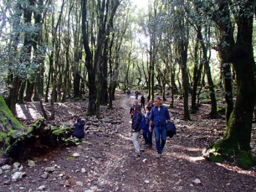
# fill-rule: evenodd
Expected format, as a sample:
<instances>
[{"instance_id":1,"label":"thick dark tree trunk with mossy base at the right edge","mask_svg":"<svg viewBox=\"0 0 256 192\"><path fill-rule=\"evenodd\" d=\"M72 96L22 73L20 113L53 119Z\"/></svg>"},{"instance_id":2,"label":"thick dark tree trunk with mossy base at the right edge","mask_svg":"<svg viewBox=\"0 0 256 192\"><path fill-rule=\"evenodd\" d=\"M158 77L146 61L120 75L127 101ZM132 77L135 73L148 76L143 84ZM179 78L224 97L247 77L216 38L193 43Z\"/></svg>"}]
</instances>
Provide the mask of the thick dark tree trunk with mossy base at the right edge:
<instances>
[{"instance_id":1,"label":"thick dark tree trunk with mossy base at the right edge","mask_svg":"<svg viewBox=\"0 0 256 192\"><path fill-rule=\"evenodd\" d=\"M221 15L218 15L218 18L228 17L228 22L234 25L234 23L231 23L228 2L221 1L219 4L220 11L218 13ZM236 43L225 45L225 47L230 46L230 52L226 54L228 54L227 61L233 64L236 72L237 97L226 124L224 139L218 141L212 147L213 155L221 157L218 160L223 158L230 160L232 157L235 157L237 158L237 164L243 168L249 168L255 164L255 160L250 152L251 128L256 95L255 62L252 44L253 5L254 1L244 1L239 5L240 9L236 12L239 15L236 17ZM213 16L212 18L216 17ZM214 20L220 27L221 32L225 34L226 24L223 24L222 21L223 19ZM210 158L214 156L210 156Z\"/></svg>"}]
</instances>

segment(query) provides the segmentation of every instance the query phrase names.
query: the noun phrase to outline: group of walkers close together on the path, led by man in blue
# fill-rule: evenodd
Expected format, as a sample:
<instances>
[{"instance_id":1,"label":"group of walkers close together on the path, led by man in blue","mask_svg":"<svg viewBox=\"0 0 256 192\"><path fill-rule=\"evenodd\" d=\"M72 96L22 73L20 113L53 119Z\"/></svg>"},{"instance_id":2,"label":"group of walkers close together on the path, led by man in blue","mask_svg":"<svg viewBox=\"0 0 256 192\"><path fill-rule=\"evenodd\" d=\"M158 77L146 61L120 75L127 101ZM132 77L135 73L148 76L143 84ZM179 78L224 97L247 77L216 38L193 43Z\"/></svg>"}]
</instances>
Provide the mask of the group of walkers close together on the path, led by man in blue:
<instances>
[{"instance_id":1,"label":"group of walkers close together on the path, led by man in blue","mask_svg":"<svg viewBox=\"0 0 256 192\"><path fill-rule=\"evenodd\" d=\"M162 105L160 97L156 97L153 101L150 100L146 106L146 116L142 114L144 108L144 95L142 94L141 103L139 105L138 97L136 97L133 106L130 108L130 115L132 119L131 130L132 130L132 141L134 144L135 151L132 153L133 156L141 155L139 136L142 135L144 138L144 145L152 148L152 133L154 130L155 144L157 155L156 158L161 158L163 153L164 145L166 145L167 139L167 123L171 122L170 113L167 107ZM143 106L143 107L142 107ZM170 134L169 134L170 135ZM173 136L173 135L172 135Z\"/></svg>"}]
</instances>

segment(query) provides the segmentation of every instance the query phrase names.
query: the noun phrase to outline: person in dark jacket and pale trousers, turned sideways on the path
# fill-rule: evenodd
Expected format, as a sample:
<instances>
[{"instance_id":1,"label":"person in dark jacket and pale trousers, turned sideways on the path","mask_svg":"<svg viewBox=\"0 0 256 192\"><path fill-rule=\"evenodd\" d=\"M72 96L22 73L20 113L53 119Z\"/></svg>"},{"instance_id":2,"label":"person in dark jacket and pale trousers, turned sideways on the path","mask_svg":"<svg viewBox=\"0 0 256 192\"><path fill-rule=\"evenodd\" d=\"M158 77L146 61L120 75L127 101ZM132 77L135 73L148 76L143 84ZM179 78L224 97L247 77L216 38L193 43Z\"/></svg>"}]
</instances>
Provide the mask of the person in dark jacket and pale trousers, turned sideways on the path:
<instances>
[{"instance_id":1,"label":"person in dark jacket and pale trousers, turned sideways on the path","mask_svg":"<svg viewBox=\"0 0 256 192\"><path fill-rule=\"evenodd\" d=\"M131 140L133 141L133 145L135 151L132 153L133 156L137 157L141 155L140 153L140 143L139 136L141 135L141 128L139 127L139 123L142 120L141 106L135 105L135 114L133 116L133 121L131 124L131 131L133 132L133 136Z\"/></svg>"}]
</instances>

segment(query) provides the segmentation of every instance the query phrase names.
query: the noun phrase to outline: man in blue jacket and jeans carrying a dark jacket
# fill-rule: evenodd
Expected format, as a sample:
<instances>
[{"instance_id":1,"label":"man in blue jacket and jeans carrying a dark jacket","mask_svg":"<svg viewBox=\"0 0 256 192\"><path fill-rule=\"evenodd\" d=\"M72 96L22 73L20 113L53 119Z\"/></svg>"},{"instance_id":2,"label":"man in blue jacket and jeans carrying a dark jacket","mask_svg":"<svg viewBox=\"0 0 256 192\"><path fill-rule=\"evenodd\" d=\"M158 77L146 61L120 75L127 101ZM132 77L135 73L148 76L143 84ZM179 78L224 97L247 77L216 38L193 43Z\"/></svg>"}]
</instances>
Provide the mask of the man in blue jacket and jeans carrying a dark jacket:
<instances>
[{"instance_id":1,"label":"man in blue jacket and jeans carrying a dark jacket","mask_svg":"<svg viewBox=\"0 0 256 192\"><path fill-rule=\"evenodd\" d=\"M171 122L171 117L167 107L162 105L160 97L156 97L154 101L155 106L150 112L149 130L152 132L152 124L154 124L155 144L158 151L156 158L161 158L164 145L166 145L166 121Z\"/></svg>"}]
</instances>

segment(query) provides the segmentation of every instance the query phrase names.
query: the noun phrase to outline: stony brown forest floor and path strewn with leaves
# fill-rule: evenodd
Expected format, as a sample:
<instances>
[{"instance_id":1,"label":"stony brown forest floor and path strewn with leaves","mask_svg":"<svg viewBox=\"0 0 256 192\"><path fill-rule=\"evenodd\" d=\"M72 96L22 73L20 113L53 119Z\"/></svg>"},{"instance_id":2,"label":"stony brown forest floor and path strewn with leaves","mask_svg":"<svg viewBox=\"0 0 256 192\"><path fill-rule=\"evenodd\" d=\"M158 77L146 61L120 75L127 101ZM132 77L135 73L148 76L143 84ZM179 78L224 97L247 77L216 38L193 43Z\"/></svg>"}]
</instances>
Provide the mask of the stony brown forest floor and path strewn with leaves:
<instances>
[{"instance_id":1,"label":"stony brown forest floor and path strewn with leaves","mask_svg":"<svg viewBox=\"0 0 256 192\"><path fill-rule=\"evenodd\" d=\"M224 119L205 119L209 105L191 116L191 122L184 122L180 120L182 103L175 100L170 112L177 135L168 139L163 158L155 159L155 145L143 147L140 157L132 157L129 107L133 99L117 94L114 110L102 107L103 121L88 120L81 145L59 147L45 156L3 166L0 191L256 191L256 166L242 170L229 162L204 160L204 148L220 139L225 129ZM48 104L45 107L49 112ZM72 125L76 115L85 114L86 101L56 103L56 108L56 120L49 123ZM40 116L38 103L17 109L24 124Z\"/></svg>"}]
</instances>

